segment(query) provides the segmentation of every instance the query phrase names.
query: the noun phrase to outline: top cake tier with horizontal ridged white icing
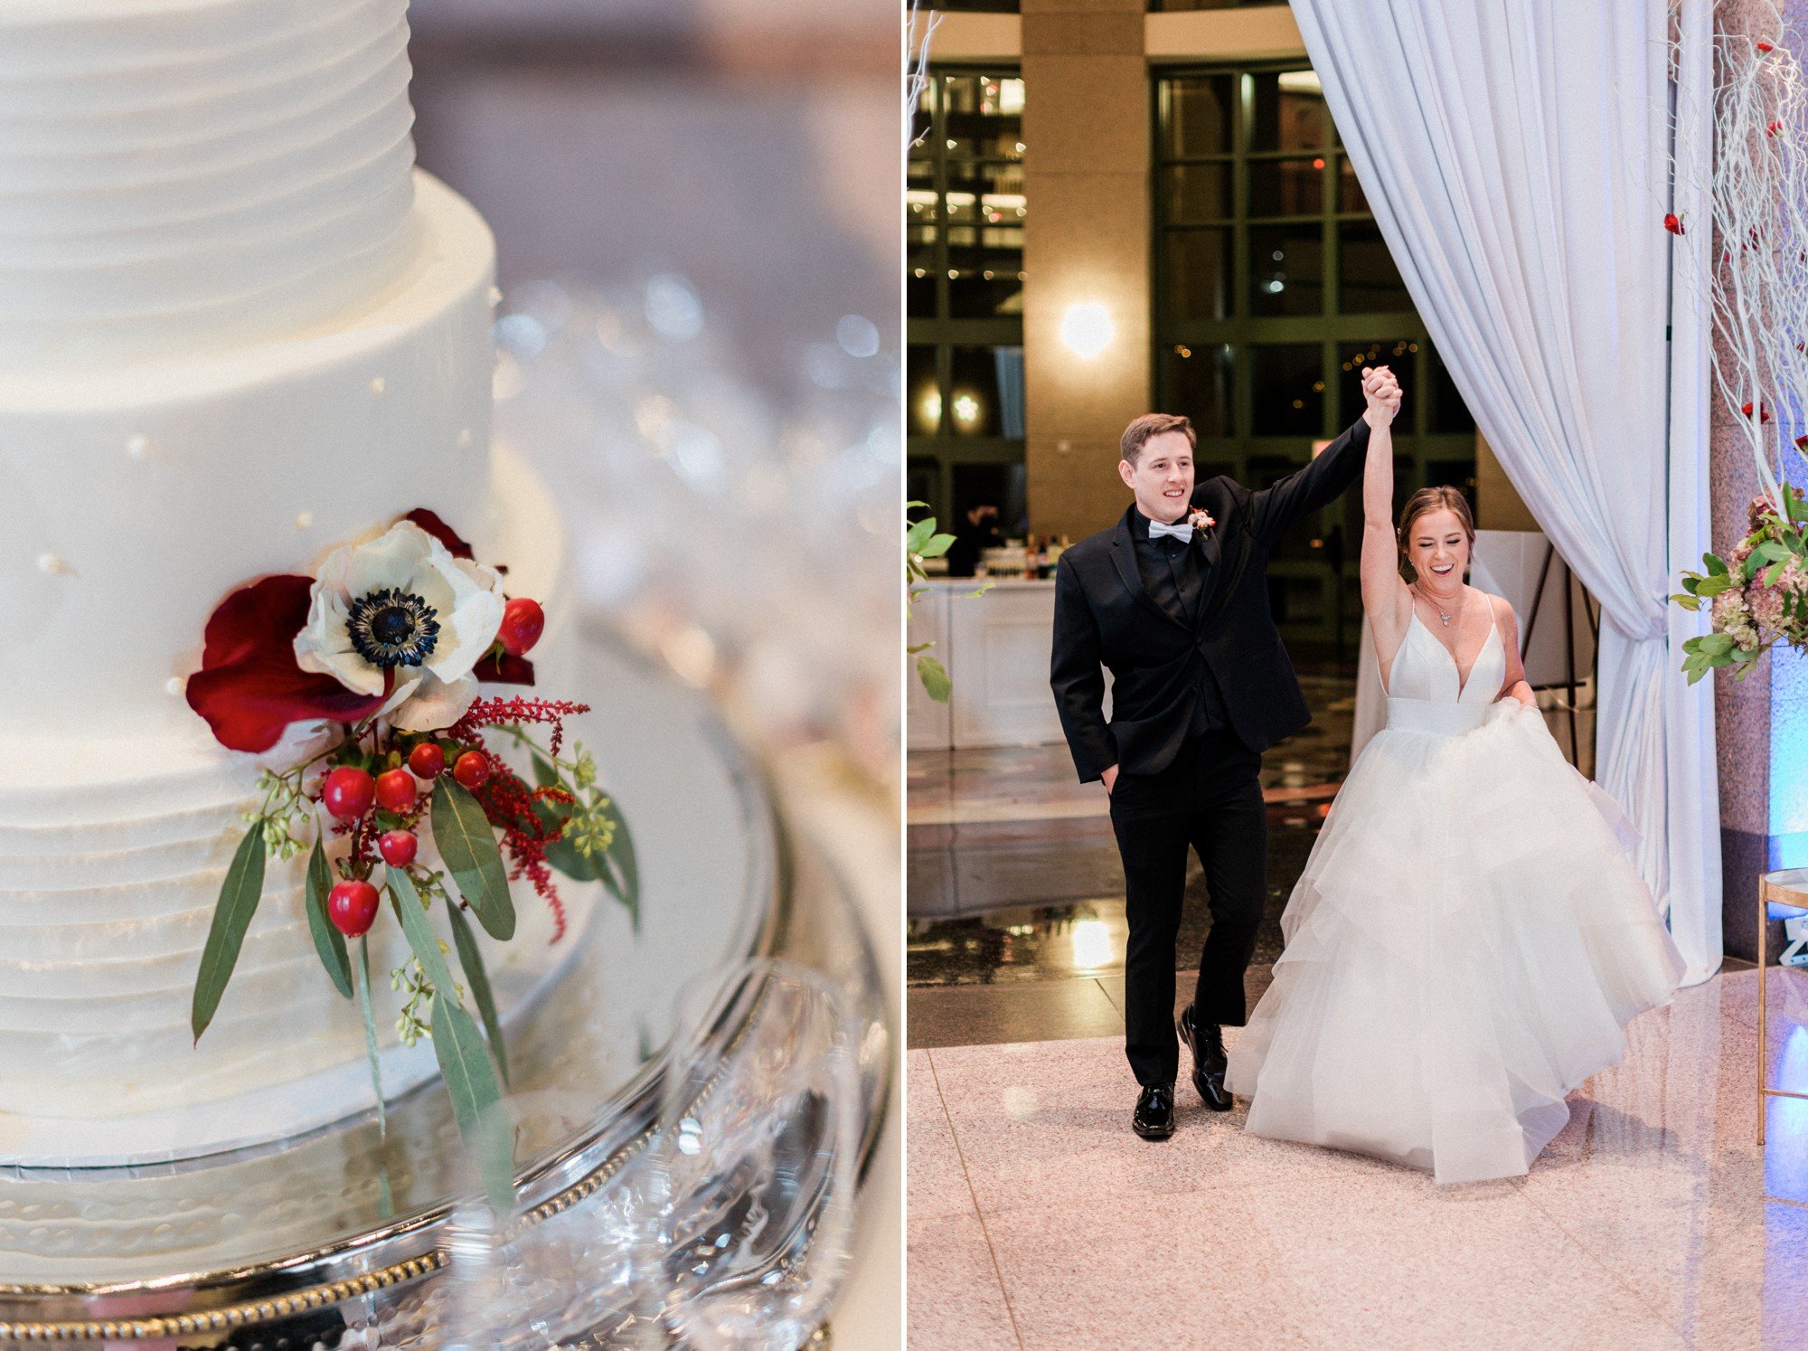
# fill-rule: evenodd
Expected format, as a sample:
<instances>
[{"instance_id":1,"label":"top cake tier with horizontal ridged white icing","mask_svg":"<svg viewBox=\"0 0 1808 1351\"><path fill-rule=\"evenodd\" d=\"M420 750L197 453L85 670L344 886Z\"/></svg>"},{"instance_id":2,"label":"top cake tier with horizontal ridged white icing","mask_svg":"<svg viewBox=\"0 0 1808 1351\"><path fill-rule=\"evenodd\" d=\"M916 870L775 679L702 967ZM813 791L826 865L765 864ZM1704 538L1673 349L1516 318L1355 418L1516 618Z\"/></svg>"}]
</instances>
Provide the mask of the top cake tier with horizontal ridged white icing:
<instances>
[{"instance_id":1,"label":"top cake tier with horizontal ridged white icing","mask_svg":"<svg viewBox=\"0 0 1808 1351\"><path fill-rule=\"evenodd\" d=\"M0 360L327 318L405 262L407 0L0 5Z\"/></svg>"}]
</instances>

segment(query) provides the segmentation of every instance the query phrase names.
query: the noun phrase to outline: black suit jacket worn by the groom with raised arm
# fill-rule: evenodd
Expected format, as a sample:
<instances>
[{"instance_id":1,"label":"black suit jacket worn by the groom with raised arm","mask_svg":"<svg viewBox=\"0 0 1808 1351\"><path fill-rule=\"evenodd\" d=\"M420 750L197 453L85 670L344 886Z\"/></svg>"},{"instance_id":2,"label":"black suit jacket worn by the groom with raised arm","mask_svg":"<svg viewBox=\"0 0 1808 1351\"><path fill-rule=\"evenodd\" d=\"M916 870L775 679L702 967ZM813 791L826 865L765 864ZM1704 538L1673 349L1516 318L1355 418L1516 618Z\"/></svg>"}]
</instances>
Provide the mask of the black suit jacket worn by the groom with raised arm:
<instances>
[{"instance_id":1,"label":"black suit jacket worn by the groom with raised arm","mask_svg":"<svg viewBox=\"0 0 1808 1351\"><path fill-rule=\"evenodd\" d=\"M1267 555L1304 515L1336 501L1369 452L1358 421L1305 468L1249 492L1228 477L1193 488L1217 524L1193 535L1210 568L1199 619L1186 624L1143 588L1130 537L1132 505L1110 530L1061 555L1054 572L1054 658L1049 684L1081 783L1112 765L1123 774L1166 769L1186 738L1206 667L1224 696L1231 731L1266 751L1309 723L1293 662L1267 604ZM1105 671L1112 720L1105 722Z\"/></svg>"}]
</instances>

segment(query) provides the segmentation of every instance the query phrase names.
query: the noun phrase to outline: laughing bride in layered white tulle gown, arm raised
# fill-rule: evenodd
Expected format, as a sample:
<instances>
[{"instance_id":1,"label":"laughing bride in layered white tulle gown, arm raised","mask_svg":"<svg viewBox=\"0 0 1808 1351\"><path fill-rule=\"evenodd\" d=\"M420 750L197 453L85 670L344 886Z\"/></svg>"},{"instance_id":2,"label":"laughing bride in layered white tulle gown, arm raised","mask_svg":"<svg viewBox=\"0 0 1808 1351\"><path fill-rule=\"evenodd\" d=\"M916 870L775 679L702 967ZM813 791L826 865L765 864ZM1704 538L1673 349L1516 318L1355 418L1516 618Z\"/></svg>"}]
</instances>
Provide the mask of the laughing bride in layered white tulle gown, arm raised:
<instances>
[{"instance_id":1,"label":"laughing bride in layered white tulle gown, arm raised","mask_svg":"<svg viewBox=\"0 0 1808 1351\"><path fill-rule=\"evenodd\" d=\"M1363 376L1363 608L1387 729L1351 769L1282 931L1275 984L1229 1051L1248 1130L1428 1168L1524 1174L1564 1096L1618 1063L1683 960L1622 852L1625 821L1564 760L1506 600L1463 582L1454 488L1396 534L1398 385ZM1401 581L1401 555L1414 582Z\"/></svg>"}]
</instances>

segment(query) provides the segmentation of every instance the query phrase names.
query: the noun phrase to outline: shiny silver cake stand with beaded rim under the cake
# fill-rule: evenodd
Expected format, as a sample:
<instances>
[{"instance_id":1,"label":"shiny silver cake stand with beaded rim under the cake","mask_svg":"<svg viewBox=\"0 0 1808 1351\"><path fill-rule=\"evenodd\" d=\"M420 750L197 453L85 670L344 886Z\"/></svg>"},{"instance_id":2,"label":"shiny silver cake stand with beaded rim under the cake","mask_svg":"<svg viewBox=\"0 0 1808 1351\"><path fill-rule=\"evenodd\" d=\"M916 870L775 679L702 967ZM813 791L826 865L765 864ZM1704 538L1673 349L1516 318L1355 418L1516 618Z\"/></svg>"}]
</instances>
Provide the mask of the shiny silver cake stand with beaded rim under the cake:
<instances>
[{"instance_id":1,"label":"shiny silver cake stand with beaded rim under the cake","mask_svg":"<svg viewBox=\"0 0 1808 1351\"><path fill-rule=\"evenodd\" d=\"M580 642L582 675L570 696L595 713L575 732L597 752L635 832L642 922L636 933L604 902L571 971L512 1022L519 1208L508 1233L524 1252L546 1239L532 1266L542 1282L553 1273L553 1302L564 1309L548 1315L541 1299L539 1320L519 1329L519 1342L490 1335L485 1344L662 1340L649 1342L645 1317L636 1326L611 1297L622 1253L611 1250L609 1226L627 1208L622 1192L674 1078L674 997L687 982L707 991L721 980L705 1031L678 1040L685 1056L723 1065L734 1063L759 1009L730 987L745 980L734 975L738 962L786 959L846 991L864 1029L862 1159L891 1091L891 1029L848 888L821 857L794 848L763 774L705 696L602 633ZM468 1215L461 1203L476 1190L438 1080L389 1105L387 1138L369 1110L181 1163L5 1168L0 1342L463 1346L456 1253ZM801 1233L781 1261L799 1262L806 1242ZM553 1326L557 1337L546 1331Z\"/></svg>"}]
</instances>

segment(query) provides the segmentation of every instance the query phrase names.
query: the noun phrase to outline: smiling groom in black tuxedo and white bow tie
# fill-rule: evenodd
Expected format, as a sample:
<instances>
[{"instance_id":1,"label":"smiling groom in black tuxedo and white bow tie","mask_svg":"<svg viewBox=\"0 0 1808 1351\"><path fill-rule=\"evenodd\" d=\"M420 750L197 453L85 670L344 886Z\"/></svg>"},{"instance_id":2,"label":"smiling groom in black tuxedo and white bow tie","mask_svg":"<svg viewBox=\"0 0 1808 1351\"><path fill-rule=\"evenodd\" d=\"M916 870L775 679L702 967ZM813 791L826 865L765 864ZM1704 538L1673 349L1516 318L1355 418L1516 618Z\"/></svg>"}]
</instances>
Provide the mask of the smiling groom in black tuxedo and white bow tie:
<instances>
[{"instance_id":1,"label":"smiling groom in black tuxedo and white bow tie","mask_svg":"<svg viewBox=\"0 0 1808 1351\"><path fill-rule=\"evenodd\" d=\"M1117 472L1135 501L1067 550L1054 582L1054 700L1081 783L1103 779L1110 792L1125 864L1125 1051L1143 1087L1132 1129L1144 1139L1173 1134L1173 944L1188 848L1206 872L1211 931L1179 1035L1206 1107L1231 1109L1219 1025L1244 1022L1244 969L1267 892L1262 751L1311 722L1269 613L1267 557L1291 524L1356 483L1369 423L1260 492L1228 477L1195 488L1193 445L1186 418L1132 421Z\"/></svg>"}]
</instances>

